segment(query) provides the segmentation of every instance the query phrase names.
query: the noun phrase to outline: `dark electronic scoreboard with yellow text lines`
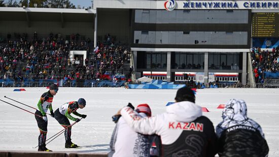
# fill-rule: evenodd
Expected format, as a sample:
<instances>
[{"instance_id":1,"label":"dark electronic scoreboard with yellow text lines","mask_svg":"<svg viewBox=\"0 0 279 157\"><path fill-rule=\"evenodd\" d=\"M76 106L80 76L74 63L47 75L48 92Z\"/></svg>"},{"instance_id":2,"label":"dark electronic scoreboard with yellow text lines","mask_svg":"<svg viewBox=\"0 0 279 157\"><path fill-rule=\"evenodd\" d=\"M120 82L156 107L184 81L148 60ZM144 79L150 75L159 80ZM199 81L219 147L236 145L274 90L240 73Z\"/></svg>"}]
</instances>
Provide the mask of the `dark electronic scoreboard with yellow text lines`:
<instances>
[{"instance_id":1,"label":"dark electronic scoreboard with yellow text lines","mask_svg":"<svg viewBox=\"0 0 279 157\"><path fill-rule=\"evenodd\" d=\"M253 13L252 37L279 37L279 13Z\"/></svg>"}]
</instances>

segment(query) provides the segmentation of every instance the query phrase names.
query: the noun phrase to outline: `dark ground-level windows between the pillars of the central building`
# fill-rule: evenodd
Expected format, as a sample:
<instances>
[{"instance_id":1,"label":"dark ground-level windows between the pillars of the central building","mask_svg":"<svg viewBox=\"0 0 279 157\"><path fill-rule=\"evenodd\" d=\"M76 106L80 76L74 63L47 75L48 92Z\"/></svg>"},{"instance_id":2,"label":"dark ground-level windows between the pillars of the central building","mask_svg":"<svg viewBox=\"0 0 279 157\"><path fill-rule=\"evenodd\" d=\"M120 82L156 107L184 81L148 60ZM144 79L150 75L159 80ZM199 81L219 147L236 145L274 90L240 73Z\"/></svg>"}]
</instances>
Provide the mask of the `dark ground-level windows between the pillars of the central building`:
<instances>
[{"instance_id":1,"label":"dark ground-level windows between the pillars of the central building","mask_svg":"<svg viewBox=\"0 0 279 157\"><path fill-rule=\"evenodd\" d=\"M156 52L137 52L137 67L140 69L166 69L167 54ZM240 53L208 53L208 69L239 70L241 69ZM204 69L204 53L173 52L171 69Z\"/></svg>"}]
</instances>

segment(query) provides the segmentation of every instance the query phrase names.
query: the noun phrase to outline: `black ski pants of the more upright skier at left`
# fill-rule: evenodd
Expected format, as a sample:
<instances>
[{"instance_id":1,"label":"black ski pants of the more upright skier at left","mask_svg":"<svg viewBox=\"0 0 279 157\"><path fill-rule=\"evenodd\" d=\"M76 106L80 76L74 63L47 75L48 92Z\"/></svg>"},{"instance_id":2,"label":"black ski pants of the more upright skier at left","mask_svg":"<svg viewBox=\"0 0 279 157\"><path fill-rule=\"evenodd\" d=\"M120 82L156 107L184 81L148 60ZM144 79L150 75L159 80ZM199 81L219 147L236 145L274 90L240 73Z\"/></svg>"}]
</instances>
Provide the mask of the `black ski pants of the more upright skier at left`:
<instances>
[{"instance_id":1,"label":"black ski pants of the more upright skier at left","mask_svg":"<svg viewBox=\"0 0 279 157\"><path fill-rule=\"evenodd\" d=\"M43 116L41 111L36 111L35 114ZM39 148L46 146L46 139L47 139L47 133L48 133L48 121L45 121L43 118L36 116L35 118L37 120L38 127L40 129L40 135L38 137L39 140Z\"/></svg>"}]
</instances>

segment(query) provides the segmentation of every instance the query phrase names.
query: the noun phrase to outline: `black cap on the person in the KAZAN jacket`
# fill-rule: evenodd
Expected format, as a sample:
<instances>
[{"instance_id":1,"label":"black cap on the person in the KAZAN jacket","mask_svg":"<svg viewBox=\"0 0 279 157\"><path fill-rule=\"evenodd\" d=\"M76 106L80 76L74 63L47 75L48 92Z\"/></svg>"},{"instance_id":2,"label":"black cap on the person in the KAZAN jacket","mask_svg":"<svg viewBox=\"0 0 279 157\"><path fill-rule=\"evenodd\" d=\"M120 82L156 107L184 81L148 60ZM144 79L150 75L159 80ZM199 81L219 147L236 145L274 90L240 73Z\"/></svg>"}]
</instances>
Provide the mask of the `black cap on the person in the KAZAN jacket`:
<instances>
[{"instance_id":1,"label":"black cap on the person in the KAZAN jacket","mask_svg":"<svg viewBox=\"0 0 279 157\"><path fill-rule=\"evenodd\" d=\"M194 91L188 87L178 89L177 96L175 98L177 102L189 101L192 103L195 103L195 99Z\"/></svg>"}]
</instances>

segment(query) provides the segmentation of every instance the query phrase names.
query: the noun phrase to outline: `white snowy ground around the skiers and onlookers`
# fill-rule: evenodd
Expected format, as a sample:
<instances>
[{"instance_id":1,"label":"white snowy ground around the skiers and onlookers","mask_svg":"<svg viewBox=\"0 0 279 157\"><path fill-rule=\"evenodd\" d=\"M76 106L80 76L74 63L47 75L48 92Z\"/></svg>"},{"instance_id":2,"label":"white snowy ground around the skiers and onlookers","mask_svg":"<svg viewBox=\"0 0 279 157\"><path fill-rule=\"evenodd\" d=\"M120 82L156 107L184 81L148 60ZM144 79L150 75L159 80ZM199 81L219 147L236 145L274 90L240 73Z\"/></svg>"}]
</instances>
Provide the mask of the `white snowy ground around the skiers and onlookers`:
<instances>
[{"instance_id":1,"label":"white snowy ground around the skiers and onlookers","mask_svg":"<svg viewBox=\"0 0 279 157\"><path fill-rule=\"evenodd\" d=\"M0 99L34 112L34 109L4 98L13 98L29 106L36 107L46 88L25 88L26 91L13 91L15 88L0 88ZM177 90L172 89L124 89L124 88L59 88L53 100L53 108L84 98L87 105L79 109L87 114L72 128L72 141L82 148L64 148L64 134L47 145L54 151L108 152L109 142L115 123L112 115L131 102L134 106L148 103L152 114L165 111L165 105L173 102ZM279 156L279 89L223 88L200 89L196 95L196 104L206 107L211 112L204 113L216 126L221 121L222 109L219 104L231 98L243 99L248 105L248 116L262 127L269 146L269 156ZM23 110L0 102L0 150L28 150L38 145L39 130L34 116ZM75 116L75 115L74 115ZM48 116L48 137L63 128ZM72 121L71 121L72 122Z\"/></svg>"}]
</instances>

